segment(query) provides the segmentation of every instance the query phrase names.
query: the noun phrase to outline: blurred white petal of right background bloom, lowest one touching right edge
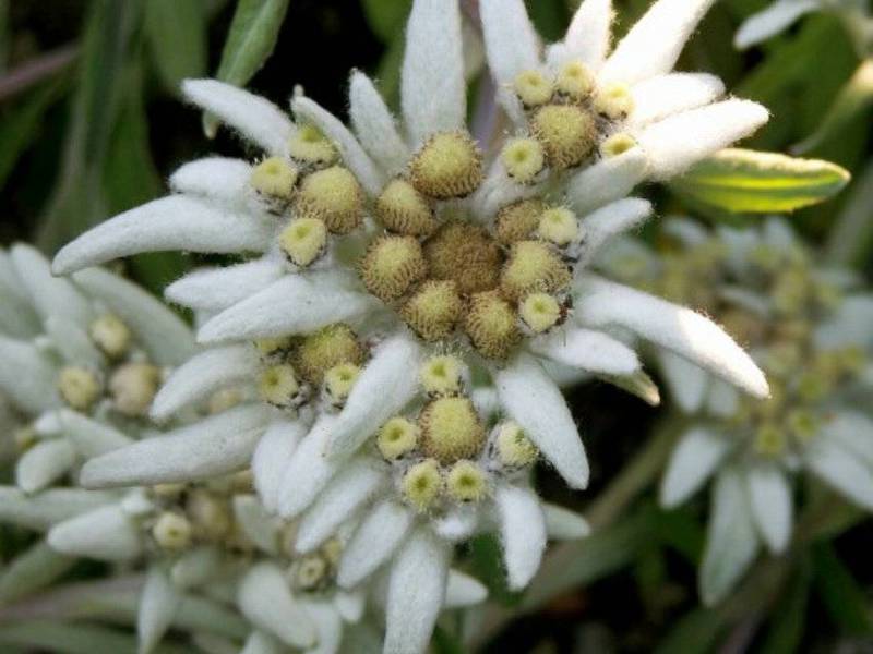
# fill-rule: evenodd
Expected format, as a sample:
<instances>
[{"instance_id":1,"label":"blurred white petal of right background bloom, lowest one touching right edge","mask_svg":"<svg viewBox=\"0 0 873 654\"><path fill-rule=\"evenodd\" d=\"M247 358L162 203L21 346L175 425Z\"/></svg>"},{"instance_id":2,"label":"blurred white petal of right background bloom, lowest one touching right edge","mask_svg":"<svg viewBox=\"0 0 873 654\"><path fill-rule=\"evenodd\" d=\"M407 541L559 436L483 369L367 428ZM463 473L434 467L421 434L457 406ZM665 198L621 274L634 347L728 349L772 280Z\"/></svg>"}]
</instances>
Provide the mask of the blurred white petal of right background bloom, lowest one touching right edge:
<instances>
[{"instance_id":1,"label":"blurred white petal of right background bloom, lowest one touching right edge","mask_svg":"<svg viewBox=\"0 0 873 654\"><path fill-rule=\"evenodd\" d=\"M803 462L837 493L873 511L873 470L854 450L833 438L814 438L803 452Z\"/></svg>"}]
</instances>

